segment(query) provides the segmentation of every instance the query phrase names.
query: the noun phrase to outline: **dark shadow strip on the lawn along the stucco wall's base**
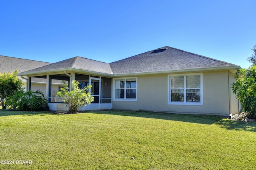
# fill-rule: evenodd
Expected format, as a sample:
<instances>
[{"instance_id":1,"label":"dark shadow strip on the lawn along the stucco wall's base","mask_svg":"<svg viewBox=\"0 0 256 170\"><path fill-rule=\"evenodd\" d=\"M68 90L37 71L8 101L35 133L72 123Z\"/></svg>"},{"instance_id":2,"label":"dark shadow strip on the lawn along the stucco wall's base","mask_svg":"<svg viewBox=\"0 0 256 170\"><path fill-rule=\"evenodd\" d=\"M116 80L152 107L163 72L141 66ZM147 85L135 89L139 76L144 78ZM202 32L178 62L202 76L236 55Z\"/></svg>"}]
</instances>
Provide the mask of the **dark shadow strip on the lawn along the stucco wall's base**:
<instances>
[{"instance_id":1,"label":"dark shadow strip on the lawn along the stucco wall's base","mask_svg":"<svg viewBox=\"0 0 256 170\"><path fill-rule=\"evenodd\" d=\"M90 111L90 113L163 119L163 120L198 123L198 124L205 124L205 125L218 125L222 128L226 128L227 130L246 130L246 131L256 132L256 123L232 121L224 117L211 116L211 115L183 115L183 114L148 112L148 111L115 111L115 110Z\"/></svg>"}]
</instances>

